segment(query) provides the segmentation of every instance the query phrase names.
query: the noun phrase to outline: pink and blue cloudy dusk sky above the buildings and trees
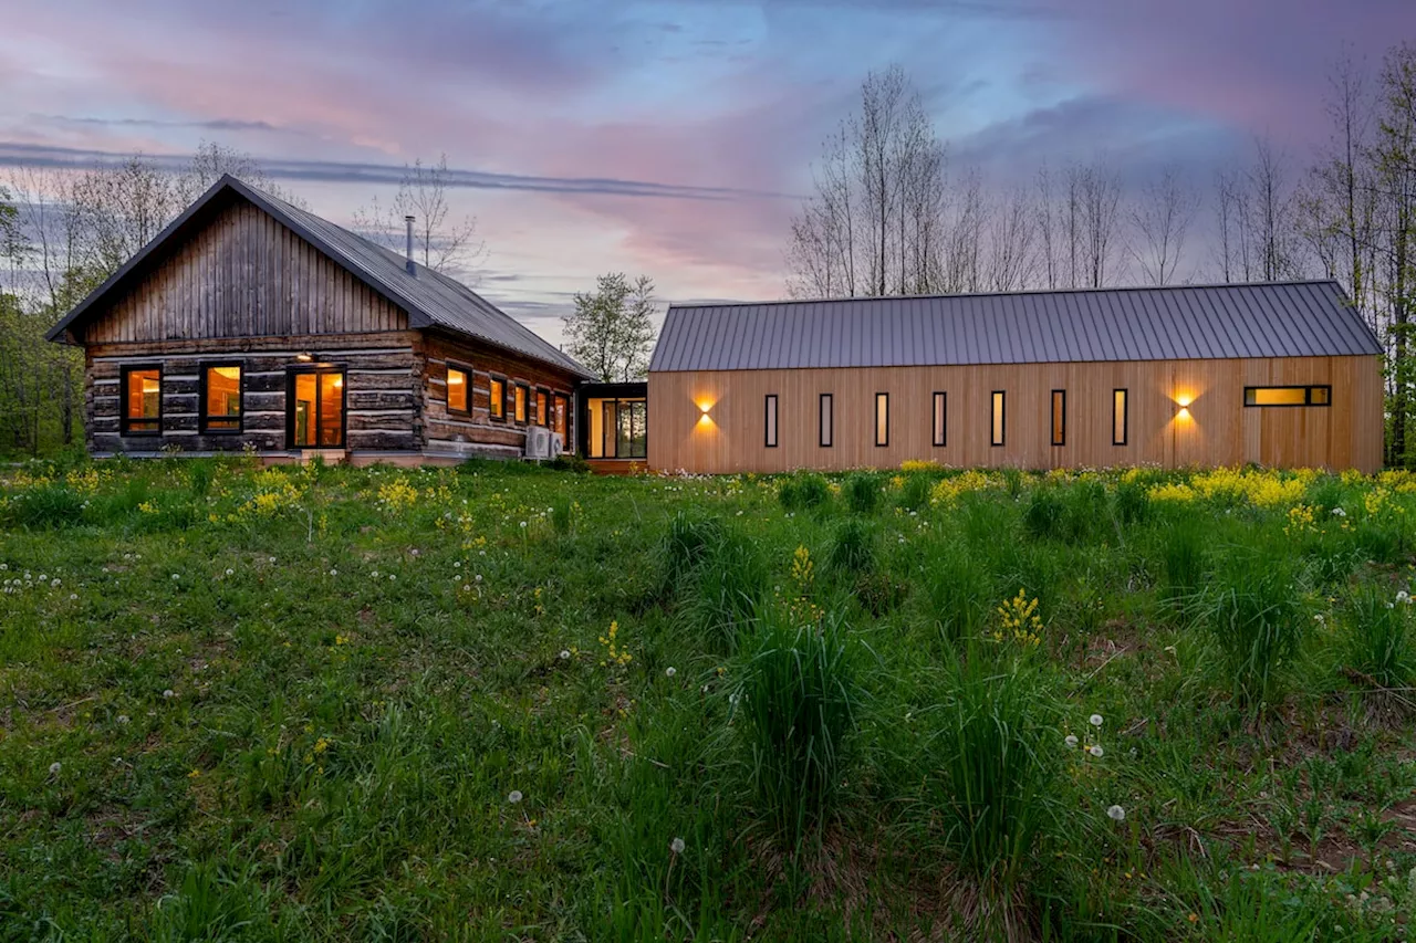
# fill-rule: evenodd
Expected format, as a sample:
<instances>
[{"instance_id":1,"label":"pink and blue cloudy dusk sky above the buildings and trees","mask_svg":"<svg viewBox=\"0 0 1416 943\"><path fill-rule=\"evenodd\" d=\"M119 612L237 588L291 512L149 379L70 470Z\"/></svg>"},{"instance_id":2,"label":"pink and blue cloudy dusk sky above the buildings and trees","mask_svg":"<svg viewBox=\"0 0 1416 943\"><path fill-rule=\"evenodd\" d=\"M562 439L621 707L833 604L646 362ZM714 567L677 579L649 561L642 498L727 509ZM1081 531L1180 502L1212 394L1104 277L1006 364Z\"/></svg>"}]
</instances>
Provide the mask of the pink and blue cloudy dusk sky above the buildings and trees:
<instances>
[{"instance_id":1,"label":"pink and blue cloudy dusk sky above the buildings and trees","mask_svg":"<svg viewBox=\"0 0 1416 943\"><path fill-rule=\"evenodd\" d=\"M479 292L552 341L602 272L775 299L823 137L899 64L990 185L1104 153L1197 178L1327 137L1327 75L1416 0L0 0L4 164L202 142L348 224L446 154Z\"/></svg>"}]
</instances>

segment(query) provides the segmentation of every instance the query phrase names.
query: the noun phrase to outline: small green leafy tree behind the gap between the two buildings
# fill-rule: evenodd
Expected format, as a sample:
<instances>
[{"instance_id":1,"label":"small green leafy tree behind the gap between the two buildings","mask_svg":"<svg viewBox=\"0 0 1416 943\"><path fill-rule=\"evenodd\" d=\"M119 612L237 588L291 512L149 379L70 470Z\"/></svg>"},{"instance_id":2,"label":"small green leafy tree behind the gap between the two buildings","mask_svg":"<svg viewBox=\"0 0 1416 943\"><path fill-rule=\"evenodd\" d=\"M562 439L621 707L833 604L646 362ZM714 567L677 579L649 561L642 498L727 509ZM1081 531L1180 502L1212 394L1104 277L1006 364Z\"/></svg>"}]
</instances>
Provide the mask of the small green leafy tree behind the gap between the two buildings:
<instances>
[{"instance_id":1,"label":"small green leafy tree behind the gap between the two buildings","mask_svg":"<svg viewBox=\"0 0 1416 943\"><path fill-rule=\"evenodd\" d=\"M623 272L602 275L593 293L576 293L566 314L568 353L605 382L641 379L654 344L654 282Z\"/></svg>"}]
</instances>

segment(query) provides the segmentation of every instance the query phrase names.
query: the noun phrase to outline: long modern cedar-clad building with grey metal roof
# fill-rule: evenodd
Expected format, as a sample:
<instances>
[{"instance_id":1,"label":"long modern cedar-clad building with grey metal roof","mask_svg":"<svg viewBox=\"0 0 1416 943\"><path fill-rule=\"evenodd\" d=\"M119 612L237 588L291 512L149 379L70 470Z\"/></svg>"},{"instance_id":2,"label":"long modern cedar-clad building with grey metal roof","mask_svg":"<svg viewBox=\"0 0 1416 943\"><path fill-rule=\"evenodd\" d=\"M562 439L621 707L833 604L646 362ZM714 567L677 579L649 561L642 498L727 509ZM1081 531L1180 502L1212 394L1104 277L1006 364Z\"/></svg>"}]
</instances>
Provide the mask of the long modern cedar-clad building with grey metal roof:
<instances>
[{"instance_id":1,"label":"long modern cedar-clad building with grey metal roof","mask_svg":"<svg viewBox=\"0 0 1416 943\"><path fill-rule=\"evenodd\" d=\"M649 464L1371 473L1381 353L1327 280L674 306Z\"/></svg>"}]
</instances>

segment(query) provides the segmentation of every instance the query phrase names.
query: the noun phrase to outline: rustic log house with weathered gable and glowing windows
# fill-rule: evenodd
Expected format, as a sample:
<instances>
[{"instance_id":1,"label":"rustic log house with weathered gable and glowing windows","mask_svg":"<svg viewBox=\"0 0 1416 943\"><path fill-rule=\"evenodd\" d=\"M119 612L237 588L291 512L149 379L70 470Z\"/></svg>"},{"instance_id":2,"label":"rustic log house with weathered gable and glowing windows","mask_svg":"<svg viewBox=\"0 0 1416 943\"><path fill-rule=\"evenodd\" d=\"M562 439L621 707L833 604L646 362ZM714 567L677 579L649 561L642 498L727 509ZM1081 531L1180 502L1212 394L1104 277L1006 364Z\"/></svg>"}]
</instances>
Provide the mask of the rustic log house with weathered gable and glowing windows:
<instances>
[{"instance_id":1,"label":"rustic log house with weathered gable and glowing windows","mask_svg":"<svg viewBox=\"0 0 1416 943\"><path fill-rule=\"evenodd\" d=\"M525 455L537 426L572 450L589 378L464 285L234 177L50 340L84 347L101 456L439 463Z\"/></svg>"}]
</instances>

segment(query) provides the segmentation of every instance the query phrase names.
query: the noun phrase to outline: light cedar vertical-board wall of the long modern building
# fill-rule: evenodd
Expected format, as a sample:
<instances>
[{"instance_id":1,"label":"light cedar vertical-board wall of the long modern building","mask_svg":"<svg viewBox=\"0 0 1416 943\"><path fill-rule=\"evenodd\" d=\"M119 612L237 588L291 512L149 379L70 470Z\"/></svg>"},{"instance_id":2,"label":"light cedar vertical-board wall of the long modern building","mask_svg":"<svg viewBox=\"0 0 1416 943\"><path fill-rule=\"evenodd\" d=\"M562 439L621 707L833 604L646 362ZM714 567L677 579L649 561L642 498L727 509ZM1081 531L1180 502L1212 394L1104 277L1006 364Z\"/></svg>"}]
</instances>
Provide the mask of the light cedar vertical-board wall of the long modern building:
<instances>
[{"instance_id":1,"label":"light cedar vertical-board wall of the long modern building","mask_svg":"<svg viewBox=\"0 0 1416 943\"><path fill-rule=\"evenodd\" d=\"M1245 408L1243 388L1328 384L1327 408ZM1112 392L1130 391L1127 445L1112 445ZM990 445L991 392L1005 391L1003 446ZM1066 443L1051 445L1052 391L1066 391ZM947 445L932 445L932 394L949 394ZM875 445L875 395L889 394L889 445ZM777 396L779 447L763 445ZM818 445L818 395L831 394L834 445ZM1177 416L1188 396L1189 416ZM984 367L654 372L649 464L658 471L899 467L1027 469L1161 464L1355 467L1382 456L1375 357L1188 360ZM701 409L709 406L707 416Z\"/></svg>"}]
</instances>

